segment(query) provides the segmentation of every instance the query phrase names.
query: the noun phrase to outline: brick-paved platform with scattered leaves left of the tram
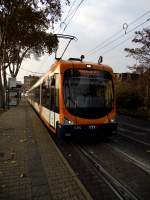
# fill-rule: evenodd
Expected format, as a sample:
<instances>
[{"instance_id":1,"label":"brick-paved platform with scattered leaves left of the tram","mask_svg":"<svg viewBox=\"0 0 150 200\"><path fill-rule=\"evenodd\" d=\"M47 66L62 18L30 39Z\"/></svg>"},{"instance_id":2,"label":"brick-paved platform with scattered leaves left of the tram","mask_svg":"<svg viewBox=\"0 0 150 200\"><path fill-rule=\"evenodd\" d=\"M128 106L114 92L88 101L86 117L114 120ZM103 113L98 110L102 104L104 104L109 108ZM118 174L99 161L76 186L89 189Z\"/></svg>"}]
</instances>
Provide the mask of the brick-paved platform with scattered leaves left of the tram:
<instances>
[{"instance_id":1,"label":"brick-paved platform with scattered leaves left of the tram","mask_svg":"<svg viewBox=\"0 0 150 200\"><path fill-rule=\"evenodd\" d=\"M0 114L0 200L92 199L28 102Z\"/></svg>"}]
</instances>

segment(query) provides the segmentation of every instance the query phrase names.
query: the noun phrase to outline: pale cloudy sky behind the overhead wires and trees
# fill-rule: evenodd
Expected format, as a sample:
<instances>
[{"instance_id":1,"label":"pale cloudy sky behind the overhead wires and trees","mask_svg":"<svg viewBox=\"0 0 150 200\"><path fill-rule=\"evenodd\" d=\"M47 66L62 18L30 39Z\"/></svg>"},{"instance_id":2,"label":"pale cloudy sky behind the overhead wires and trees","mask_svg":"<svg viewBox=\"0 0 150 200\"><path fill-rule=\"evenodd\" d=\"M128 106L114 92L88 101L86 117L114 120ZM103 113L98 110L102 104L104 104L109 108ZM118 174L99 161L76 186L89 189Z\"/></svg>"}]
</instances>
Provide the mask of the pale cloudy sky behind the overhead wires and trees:
<instances>
[{"instance_id":1,"label":"pale cloudy sky behind the overhead wires and trees","mask_svg":"<svg viewBox=\"0 0 150 200\"><path fill-rule=\"evenodd\" d=\"M77 41L71 42L64 59L80 58L83 54L86 61L97 63L101 55L103 63L111 66L115 73L128 72L127 66L136 64L136 61L127 57L124 48L136 47L131 42L134 32L150 27L150 21L146 21L150 18L150 0L82 0L74 15L73 10L81 0L70 2L70 18L64 23L70 7L63 8L61 22L55 24L54 30L50 30L77 38ZM60 41L60 44L62 46L64 43ZM45 54L38 60L31 56L23 61L17 80L23 82L24 76L42 75L50 69L53 62L53 54Z\"/></svg>"}]
</instances>

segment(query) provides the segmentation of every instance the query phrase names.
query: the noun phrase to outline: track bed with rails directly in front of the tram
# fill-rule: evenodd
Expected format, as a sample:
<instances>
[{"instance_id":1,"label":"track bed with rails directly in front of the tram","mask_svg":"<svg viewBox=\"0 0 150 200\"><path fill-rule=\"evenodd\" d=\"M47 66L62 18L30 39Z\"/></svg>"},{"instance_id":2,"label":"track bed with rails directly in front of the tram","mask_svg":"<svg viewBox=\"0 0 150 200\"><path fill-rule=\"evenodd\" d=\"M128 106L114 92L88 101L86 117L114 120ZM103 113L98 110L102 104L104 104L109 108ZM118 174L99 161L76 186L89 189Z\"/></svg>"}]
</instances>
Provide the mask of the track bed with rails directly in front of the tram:
<instances>
[{"instance_id":1,"label":"track bed with rails directly in front of the tram","mask_svg":"<svg viewBox=\"0 0 150 200\"><path fill-rule=\"evenodd\" d=\"M64 157L94 200L149 200L149 166L112 146L111 139L90 144L61 141L61 145Z\"/></svg>"}]
</instances>

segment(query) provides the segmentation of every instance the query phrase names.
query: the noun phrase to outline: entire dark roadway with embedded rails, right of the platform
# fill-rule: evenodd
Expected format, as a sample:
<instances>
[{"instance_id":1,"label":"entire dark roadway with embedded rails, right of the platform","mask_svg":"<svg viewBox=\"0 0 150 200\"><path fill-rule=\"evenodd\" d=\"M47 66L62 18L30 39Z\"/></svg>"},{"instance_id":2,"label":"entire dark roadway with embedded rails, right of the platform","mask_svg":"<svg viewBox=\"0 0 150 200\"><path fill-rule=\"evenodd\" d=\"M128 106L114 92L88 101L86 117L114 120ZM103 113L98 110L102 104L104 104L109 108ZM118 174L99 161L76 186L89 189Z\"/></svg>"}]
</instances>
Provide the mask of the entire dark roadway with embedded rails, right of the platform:
<instances>
[{"instance_id":1,"label":"entire dark roadway with embedded rails, right of the platform","mask_svg":"<svg viewBox=\"0 0 150 200\"><path fill-rule=\"evenodd\" d=\"M106 140L56 143L93 199L149 200L150 123L119 116L118 124Z\"/></svg>"}]
</instances>

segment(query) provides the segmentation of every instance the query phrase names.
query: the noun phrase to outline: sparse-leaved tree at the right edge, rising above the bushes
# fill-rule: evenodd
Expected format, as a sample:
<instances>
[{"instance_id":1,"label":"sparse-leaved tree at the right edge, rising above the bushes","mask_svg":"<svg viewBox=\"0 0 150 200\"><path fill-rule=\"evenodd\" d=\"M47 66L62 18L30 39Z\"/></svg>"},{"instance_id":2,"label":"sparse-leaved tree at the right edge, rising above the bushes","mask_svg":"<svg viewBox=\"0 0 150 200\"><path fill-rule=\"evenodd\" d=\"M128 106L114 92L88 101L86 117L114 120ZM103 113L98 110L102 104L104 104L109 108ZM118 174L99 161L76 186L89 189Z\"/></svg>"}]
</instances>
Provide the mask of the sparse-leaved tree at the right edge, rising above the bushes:
<instances>
[{"instance_id":1,"label":"sparse-leaved tree at the right edge, rising above the bushes","mask_svg":"<svg viewBox=\"0 0 150 200\"><path fill-rule=\"evenodd\" d=\"M134 73L138 73L137 82L138 93L143 96L146 107L150 107L150 29L143 29L135 32L132 42L138 45L138 48L125 48L128 56L138 61L138 64L129 67Z\"/></svg>"}]
</instances>

